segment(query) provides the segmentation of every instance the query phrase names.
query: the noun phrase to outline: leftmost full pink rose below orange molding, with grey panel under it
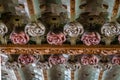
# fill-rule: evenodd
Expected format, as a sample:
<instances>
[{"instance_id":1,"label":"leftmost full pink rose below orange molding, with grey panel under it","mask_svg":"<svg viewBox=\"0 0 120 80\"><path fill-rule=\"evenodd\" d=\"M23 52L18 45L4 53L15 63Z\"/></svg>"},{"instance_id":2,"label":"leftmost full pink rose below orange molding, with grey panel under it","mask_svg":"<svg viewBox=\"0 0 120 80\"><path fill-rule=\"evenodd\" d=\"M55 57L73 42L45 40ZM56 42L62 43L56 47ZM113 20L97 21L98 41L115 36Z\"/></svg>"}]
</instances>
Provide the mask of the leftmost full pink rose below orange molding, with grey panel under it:
<instances>
[{"instance_id":1,"label":"leftmost full pink rose below orange molding, with grey panel under it","mask_svg":"<svg viewBox=\"0 0 120 80\"><path fill-rule=\"evenodd\" d=\"M43 69L37 67L38 56L21 54L18 57L18 62L21 63L22 75L25 76L25 80L44 80Z\"/></svg>"}]
</instances>

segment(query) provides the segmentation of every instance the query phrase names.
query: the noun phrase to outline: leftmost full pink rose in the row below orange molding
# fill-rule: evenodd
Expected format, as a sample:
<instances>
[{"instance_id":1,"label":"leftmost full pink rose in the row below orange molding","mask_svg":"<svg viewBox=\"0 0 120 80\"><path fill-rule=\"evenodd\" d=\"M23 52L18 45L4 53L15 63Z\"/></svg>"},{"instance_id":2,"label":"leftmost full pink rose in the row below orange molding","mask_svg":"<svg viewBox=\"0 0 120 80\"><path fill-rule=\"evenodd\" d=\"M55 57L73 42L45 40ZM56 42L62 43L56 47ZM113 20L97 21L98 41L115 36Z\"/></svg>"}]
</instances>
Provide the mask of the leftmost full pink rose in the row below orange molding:
<instances>
[{"instance_id":1,"label":"leftmost full pink rose in the row below orange molding","mask_svg":"<svg viewBox=\"0 0 120 80\"><path fill-rule=\"evenodd\" d=\"M35 62L35 60L36 60L35 57L30 55L30 54L21 54L18 57L18 62L23 64L23 65L33 63L33 62Z\"/></svg>"}]
</instances>

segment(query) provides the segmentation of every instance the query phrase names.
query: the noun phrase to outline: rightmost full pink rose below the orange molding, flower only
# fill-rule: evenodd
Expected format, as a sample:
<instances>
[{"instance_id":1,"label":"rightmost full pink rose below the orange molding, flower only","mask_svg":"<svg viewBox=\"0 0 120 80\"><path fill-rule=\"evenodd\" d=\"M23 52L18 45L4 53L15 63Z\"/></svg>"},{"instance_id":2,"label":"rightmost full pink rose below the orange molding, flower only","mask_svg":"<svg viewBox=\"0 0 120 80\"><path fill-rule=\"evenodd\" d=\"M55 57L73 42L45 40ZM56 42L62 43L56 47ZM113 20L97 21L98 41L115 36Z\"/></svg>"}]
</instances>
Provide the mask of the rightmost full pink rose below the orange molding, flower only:
<instances>
[{"instance_id":1,"label":"rightmost full pink rose below the orange molding, flower only","mask_svg":"<svg viewBox=\"0 0 120 80\"><path fill-rule=\"evenodd\" d=\"M93 56L82 56L81 63L83 65L96 65L99 59L95 55Z\"/></svg>"}]
</instances>

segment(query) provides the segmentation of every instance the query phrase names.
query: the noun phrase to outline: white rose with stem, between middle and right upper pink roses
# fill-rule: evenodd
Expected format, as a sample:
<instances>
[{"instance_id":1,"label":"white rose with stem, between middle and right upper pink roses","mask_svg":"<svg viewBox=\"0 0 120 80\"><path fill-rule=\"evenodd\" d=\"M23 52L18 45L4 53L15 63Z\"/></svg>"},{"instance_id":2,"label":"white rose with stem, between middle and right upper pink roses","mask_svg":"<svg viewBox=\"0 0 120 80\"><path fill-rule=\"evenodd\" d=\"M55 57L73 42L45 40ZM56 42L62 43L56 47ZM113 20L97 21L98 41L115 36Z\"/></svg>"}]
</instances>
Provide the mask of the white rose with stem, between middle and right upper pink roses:
<instances>
[{"instance_id":1,"label":"white rose with stem, between middle and right upper pink roses","mask_svg":"<svg viewBox=\"0 0 120 80\"><path fill-rule=\"evenodd\" d=\"M78 36L83 32L83 26L79 22L70 22L64 26L64 34L70 37L71 45L76 44Z\"/></svg>"}]
</instances>

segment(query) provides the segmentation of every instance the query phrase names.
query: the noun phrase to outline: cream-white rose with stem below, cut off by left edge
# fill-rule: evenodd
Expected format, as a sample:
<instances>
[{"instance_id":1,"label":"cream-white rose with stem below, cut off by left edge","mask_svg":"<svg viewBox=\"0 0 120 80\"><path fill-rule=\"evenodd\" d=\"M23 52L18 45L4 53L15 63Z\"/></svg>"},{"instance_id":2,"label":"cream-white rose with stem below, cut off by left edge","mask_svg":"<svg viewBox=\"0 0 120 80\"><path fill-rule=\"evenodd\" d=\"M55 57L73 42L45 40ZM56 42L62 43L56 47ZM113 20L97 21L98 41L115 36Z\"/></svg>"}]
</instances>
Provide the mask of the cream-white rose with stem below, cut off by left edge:
<instances>
[{"instance_id":1,"label":"cream-white rose with stem below, cut off by left edge","mask_svg":"<svg viewBox=\"0 0 120 80\"><path fill-rule=\"evenodd\" d=\"M4 23L0 22L0 41L2 44L7 44L6 38L3 37L7 32L7 26Z\"/></svg>"}]
</instances>

